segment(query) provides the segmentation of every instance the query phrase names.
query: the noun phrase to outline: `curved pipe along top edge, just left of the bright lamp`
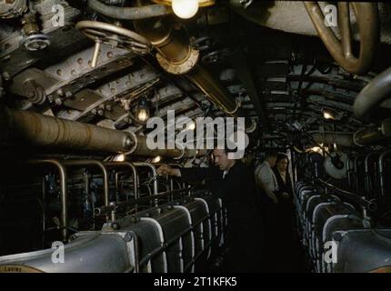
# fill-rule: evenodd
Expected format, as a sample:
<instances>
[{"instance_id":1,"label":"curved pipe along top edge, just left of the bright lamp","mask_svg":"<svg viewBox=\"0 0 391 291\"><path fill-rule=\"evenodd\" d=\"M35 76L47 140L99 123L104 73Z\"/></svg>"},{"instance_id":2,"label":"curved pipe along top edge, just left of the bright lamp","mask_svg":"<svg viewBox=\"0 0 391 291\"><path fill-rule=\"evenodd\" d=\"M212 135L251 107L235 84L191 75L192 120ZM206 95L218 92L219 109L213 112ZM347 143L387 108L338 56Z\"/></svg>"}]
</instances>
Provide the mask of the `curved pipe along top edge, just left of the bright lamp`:
<instances>
[{"instance_id":1,"label":"curved pipe along top edge, just left of the bright lamp","mask_svg":"<svg viewBox=\"0 0 391 291\"><path fill-rule=\"evenodd\" d=\"M88 0L88 7L101 15L115 19L138 20L157 16L171 15L173 13L167 5L145 5L141 7L116 7L105 5L98 0Z\"/></svg>"}]
</instances>

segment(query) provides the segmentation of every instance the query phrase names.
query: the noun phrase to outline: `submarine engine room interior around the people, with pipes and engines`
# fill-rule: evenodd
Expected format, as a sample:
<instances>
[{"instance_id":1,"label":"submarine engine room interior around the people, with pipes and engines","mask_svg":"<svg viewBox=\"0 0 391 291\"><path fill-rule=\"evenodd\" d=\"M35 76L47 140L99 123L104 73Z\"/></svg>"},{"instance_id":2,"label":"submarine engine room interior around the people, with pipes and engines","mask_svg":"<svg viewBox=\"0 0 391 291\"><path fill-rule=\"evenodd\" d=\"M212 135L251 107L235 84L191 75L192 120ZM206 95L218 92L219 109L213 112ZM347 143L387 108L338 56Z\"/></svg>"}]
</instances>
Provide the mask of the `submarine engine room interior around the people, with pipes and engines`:
<instances>
[{"instance_id":1,"label":"submarine engine room interior around the people, with pipes and engines","mask_svg":"<svg viewBox=\"0 0 391 291\"><path fill-rule=\"evenodd\" d=\"M221 120L262 222L161 175L218 164ZM0 161L0 273L229 272L231 236L259 272L391 273L391 4L0 0Z\"/></svg>"}]
</instances>

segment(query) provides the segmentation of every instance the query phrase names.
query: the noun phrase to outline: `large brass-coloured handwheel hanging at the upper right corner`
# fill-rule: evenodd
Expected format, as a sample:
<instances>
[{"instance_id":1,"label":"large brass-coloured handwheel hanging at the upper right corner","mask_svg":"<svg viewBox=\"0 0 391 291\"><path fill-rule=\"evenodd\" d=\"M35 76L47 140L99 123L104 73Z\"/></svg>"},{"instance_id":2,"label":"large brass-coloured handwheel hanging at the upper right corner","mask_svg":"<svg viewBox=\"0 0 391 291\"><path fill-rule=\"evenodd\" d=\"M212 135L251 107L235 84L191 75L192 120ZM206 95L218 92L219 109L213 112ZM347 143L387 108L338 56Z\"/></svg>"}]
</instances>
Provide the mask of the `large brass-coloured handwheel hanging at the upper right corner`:
<instances>
[{"instance_id":1,"label":"large brass-coloured handwheel hanging at the upper right corner","mask_svg":"<svg viewBox=\"0 0 391 291\"><path fill-rule=\"evenodd\" d=\"M372 2L338 2L339 40L333 30L326 26L325 15L317 2L304 2L306 11L316 27L317 34L323 40L329 53L347 72L363 75L372 65L379 41L379 16L377 4ZM350 29L350 7L356 15L360 35L360 53L356 57L352 52Z\"/></svg>"}]
</instances>

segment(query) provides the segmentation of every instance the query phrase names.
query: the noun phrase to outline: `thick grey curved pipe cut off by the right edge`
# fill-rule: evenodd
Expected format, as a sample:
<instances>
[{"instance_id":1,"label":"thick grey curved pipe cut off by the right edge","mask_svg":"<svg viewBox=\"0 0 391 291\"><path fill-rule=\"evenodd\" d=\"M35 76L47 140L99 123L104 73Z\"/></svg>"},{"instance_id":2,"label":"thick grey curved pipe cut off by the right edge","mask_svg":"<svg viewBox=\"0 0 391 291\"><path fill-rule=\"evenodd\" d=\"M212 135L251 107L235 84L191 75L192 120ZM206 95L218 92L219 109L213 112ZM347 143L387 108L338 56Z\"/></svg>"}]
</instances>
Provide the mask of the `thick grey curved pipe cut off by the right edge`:
<instances>
[{"instance_id":1,"label":"thick grey curved pipe cut off by the right edge","mask_svg":"<svg viewBox=\"0 0 391 291\"><path fill-rule=\"evenodd\" d=\"M370 121L375 109L391 95L391 67L377 75L356 96L353 112L363 121Z\"/></svg>"}]
</instances>

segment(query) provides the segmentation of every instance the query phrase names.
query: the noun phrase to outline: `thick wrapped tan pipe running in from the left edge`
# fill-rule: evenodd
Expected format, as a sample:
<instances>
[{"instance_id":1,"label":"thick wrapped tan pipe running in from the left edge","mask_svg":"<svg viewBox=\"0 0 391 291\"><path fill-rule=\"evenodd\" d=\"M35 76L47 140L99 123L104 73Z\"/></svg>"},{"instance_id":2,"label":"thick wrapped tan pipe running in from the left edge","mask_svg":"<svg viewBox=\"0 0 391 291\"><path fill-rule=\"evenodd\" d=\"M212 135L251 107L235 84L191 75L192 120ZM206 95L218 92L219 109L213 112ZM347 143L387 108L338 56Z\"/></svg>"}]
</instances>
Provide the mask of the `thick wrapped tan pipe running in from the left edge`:
<instances>
[{"instance_id":1,"label":"thick wrapped tan pipe running in from the left edge","mask_svg":"<svg viewBox=\"0 0 391 291\"><path fill-rule=\"evenodd\" d=\"M131 152L135 135L35 112L0 108L0 144Z\"/></svg>"}]
</instances>

